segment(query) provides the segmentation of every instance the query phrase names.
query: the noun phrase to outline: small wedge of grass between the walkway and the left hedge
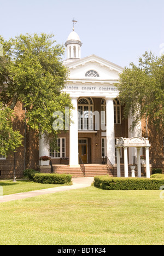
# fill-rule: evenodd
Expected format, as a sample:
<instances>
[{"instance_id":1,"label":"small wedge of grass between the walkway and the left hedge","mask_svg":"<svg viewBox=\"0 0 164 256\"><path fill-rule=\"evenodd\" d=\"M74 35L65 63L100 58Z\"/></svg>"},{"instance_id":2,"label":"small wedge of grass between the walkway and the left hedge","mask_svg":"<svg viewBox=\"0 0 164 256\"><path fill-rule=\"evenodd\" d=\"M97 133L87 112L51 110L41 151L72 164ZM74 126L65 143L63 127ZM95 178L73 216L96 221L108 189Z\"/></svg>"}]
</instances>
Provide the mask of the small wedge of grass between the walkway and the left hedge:
<instances>
[{"instance_id":1,"label":"small wedge of grass between the walkway and the left hedge","mask_svg":"<svg viewBox=\"0 0 164 256\"><path fill-rule=\"evenodd\" d=\"M40 190L46 188L60 187L66 184L41 184L36 182L31 182L28 180L19 180L14 183L13 181L0 181L0 186L3 188L3 195L10 195L16 193L22 193L33 190Z\"/></svg>"}]
</instances>

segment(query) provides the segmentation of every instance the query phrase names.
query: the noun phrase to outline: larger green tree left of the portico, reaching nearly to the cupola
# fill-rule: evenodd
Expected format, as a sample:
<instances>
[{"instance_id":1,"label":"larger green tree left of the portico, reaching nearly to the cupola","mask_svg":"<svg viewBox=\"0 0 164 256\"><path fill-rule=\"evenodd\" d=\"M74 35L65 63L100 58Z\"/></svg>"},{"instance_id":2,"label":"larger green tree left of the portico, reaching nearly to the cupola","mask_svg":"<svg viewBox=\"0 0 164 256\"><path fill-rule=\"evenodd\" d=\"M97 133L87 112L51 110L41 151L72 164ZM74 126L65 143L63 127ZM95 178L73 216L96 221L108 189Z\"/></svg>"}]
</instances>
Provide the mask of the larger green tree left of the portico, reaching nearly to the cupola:
<instances>
[{"instance_id":1,"label":"larger green tree left of the portico, reaching nearly to the cupola","mask_svg":"<svg viewBox=\"0 0 164 256\"><path fill-rule=\"evenodd\" d=\"M61 90L67 79L62 65L63 46L55 45L52 34L26 34L4 40L0 61L0 100L14 109L18 102L26 107L26 122L38 132L57 135L53 113L72 108L69 95Z\"/></svg>"}]
</instances>

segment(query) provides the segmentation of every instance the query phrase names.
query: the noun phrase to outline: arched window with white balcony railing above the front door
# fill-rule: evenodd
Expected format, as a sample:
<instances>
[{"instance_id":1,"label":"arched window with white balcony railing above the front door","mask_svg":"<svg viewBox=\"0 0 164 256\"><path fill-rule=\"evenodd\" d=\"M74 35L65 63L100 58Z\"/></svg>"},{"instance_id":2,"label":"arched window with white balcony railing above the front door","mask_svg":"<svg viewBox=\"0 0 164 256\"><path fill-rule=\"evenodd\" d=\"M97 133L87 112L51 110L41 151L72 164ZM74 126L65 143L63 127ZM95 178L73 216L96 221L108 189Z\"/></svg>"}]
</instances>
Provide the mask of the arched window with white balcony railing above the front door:
<instances>
[{"instance_id":1,"label":"arched window with white balcony railing above the front door","mask_svg":"<svg viewBox=\"0 0 164 256\"><path fill-rule=\"evenodd\" d=\"M78 129L93 130L93 101L91 98L80 98L78 101Z\"/></svg>"}]
</instances>

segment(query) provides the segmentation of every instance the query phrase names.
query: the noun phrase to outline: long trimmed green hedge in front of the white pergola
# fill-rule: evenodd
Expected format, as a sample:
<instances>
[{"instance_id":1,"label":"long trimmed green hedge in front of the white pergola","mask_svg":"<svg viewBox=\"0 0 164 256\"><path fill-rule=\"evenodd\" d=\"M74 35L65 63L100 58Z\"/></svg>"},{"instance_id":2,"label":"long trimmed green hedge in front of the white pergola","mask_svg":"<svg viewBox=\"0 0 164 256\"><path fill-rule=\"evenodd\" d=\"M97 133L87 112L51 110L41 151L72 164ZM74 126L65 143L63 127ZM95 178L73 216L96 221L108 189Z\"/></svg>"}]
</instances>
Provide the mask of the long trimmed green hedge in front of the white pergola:
<instances>
[{"instance_id":1,"label":"long trimmed green hedge in front of the white pergola","mask_svg":"<svg viewBox=\"0 0 164 256\"><path fill-rule=\"evenodd\" d=\"M94 177L94 186L107 190L159 190L161 185L164 185L164 178Z\"/></svg>"}]
</instances>

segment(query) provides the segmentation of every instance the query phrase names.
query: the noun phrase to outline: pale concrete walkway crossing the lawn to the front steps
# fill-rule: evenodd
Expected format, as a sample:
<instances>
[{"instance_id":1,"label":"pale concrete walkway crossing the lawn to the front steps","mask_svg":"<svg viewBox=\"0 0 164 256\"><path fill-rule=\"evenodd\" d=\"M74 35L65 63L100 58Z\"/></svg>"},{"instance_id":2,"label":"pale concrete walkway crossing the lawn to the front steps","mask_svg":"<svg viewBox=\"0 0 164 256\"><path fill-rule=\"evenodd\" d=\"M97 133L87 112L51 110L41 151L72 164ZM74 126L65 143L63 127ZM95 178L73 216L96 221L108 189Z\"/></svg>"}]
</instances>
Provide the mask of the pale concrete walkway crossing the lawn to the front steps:
<instances>
[{"instance_id":1,"label":"pale concrete walkway crossing the lawn to the front steps","mask_svg":"<svg viewBox=\"0 0 164 256\"><path fill-rule=\"evenodd\" d=\"M60 191L67 191L67 190L72 190L72 189L90 187L91 183L93 182L93 179L94 179L93 177L72 178L73 185L71 185L71 186L40 189L40 190L29 191L29 192L24 192L24 193L19 193L19 194L0 196L0 203L19 200L19 199L25 199L28 197L33 197L33 196L38 196L38 195L52 194L52 193L56 193L56 192L60 192Z\"/></svg>"}]
</instances>

